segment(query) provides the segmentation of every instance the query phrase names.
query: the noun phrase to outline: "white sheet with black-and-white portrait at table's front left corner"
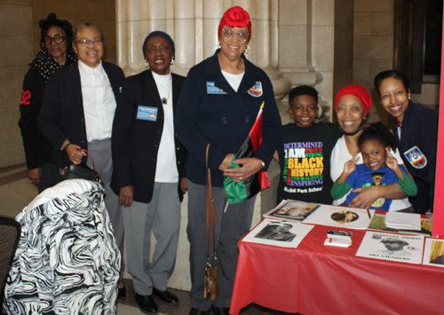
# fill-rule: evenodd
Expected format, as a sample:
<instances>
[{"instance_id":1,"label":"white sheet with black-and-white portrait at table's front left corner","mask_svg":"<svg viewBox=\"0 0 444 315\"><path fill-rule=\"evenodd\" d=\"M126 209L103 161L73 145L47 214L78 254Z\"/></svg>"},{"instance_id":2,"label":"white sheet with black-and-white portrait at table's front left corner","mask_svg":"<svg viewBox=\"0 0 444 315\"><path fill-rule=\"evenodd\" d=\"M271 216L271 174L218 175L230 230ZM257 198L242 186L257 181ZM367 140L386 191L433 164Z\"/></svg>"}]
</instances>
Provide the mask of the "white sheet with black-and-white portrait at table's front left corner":
<instances>
[{"instance_id":1,"label":"white sheet with black-and-white portrait at table's front left corner","mask_svg":"<svg viewBox=\"0 0 444 315\"><path fill-rule=\"evenodd\" d=\"M296 222L264 219L242 241L279 246L281 248L297 248L313 225Z\"/></svg>"}]
</instances>

